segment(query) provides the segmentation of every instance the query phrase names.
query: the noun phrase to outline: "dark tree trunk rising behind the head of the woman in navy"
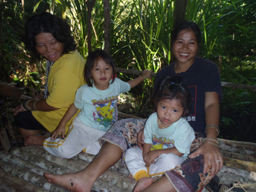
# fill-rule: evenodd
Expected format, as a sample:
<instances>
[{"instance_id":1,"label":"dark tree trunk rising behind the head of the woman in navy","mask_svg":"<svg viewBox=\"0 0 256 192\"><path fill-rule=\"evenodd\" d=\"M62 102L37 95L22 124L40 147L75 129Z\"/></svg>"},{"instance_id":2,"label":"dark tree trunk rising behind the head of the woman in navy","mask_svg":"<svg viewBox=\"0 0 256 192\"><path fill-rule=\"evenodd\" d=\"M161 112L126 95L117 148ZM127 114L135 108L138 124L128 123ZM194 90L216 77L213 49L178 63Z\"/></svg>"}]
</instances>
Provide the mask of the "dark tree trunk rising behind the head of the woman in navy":
<instances>
[{"instance_id":1,"label":"dark tree trunk rising behind the head of the woman in navy","mask_svg":"<svg viewBox=\"0 0 256 192\"><path fill-rule=\"evenodd\" d=\"M175 2L175 16L173 26L179 25L181 22L185 21L186 7L188 0L176 0ZM171 63L176 61L175 55L171 51Z\"/></svg>"}]
</instances>

